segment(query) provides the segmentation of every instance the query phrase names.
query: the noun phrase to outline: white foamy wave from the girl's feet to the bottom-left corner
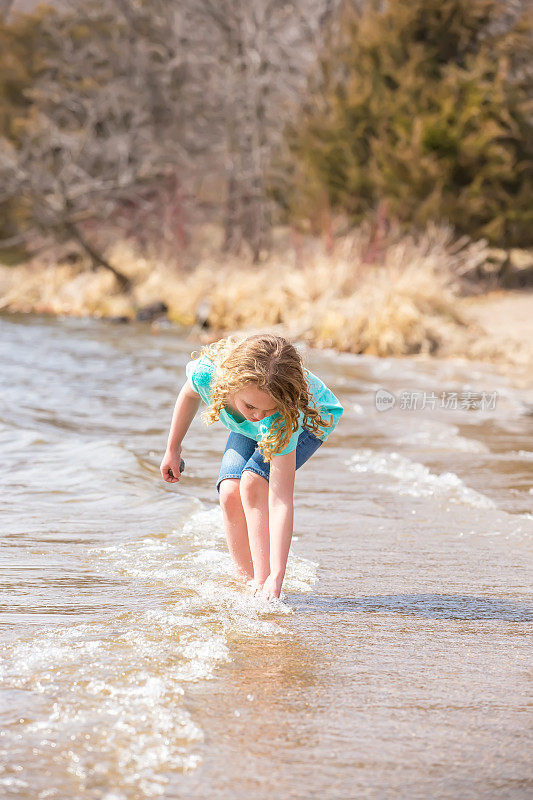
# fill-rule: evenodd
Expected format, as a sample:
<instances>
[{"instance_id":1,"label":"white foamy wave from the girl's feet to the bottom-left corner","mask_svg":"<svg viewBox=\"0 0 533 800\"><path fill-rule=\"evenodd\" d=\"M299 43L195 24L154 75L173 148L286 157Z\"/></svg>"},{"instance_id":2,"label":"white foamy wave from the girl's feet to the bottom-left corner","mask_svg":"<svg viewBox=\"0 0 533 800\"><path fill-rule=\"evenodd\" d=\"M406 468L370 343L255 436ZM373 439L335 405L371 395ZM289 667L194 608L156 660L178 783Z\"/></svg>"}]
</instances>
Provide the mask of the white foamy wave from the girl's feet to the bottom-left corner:
<instances>
[{"instance_id":1,"label":"white foamy wave from the girl's feet to the bottom-left corner","mask_svg":"<svg viewBox=\"0 0 533 800\"><path fill-rule=\"evenodd\" d=\"M236 634L288 635L280 623L292 608L254 597L233 577L220 508L200 508L168 536L91 548L87 558L100 574L121 577L127 610L102 623L35 627L3 646L3 688L43 702L29 720L18 712L0 739L0 761L33 753L19 788L0 768L0 790L32 786L38 797L40 775L53 772L62 796L113 786L108 800L161 797L170 773L201 760L187 685L231 660ZM285 591L309 591L316 566L291 554Z\"/></svg>"}]
</instances>

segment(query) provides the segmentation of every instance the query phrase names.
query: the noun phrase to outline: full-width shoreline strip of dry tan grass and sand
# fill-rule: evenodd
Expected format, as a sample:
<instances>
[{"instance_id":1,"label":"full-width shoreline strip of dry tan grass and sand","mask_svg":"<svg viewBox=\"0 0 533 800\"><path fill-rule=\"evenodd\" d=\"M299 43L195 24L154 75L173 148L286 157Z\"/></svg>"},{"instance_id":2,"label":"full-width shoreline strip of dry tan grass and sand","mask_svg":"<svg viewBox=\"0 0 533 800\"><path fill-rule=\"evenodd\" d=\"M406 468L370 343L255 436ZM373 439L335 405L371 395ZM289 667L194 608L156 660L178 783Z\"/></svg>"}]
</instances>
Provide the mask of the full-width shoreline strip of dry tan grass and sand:
<instances>
[{"instance_id":1,"label":"full-width shoreline strip of dry tan grass and sand","mask_svg":"<svg viewBox=\"0 0 533 800\"><path fill-rule=\"evenodd\" d=\"M464 357L533 364L531 291L464 296L461 275L489 259L481 243L453 244L448 229L376 244L358 231L329 252L308 239L281 242L260 265L199 253L177 268L125 242L107 254L132 281L120 290L107 270L49 255L0 266L0 310L136 318L163 304L172 322L213 339L234 330L274 328L317 348L376 356Z\"/></svg>"}]
</instances>

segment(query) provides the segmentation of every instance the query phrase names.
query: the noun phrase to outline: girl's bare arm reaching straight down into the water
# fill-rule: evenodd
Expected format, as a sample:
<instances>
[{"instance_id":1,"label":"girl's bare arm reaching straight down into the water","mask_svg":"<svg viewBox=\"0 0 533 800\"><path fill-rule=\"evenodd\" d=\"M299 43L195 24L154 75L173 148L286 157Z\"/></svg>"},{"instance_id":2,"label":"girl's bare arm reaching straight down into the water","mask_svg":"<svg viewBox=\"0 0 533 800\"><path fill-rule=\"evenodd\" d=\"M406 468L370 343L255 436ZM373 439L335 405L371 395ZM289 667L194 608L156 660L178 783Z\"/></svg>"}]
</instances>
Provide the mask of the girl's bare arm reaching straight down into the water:
<instances>
[{"instance_id":1,"label":"girl's bare arm reaching straight down into the water","mask_svg":"<svg viewBox=\"0 0 533 800\"><path fill-rule=\"evenodd\" d=\"M287 567L294 518L294 473L296 450L273 456L268 490L268 526L270 531L270 575L263 584L267 599L279 597Z\"/></svg>"}]
</instances>

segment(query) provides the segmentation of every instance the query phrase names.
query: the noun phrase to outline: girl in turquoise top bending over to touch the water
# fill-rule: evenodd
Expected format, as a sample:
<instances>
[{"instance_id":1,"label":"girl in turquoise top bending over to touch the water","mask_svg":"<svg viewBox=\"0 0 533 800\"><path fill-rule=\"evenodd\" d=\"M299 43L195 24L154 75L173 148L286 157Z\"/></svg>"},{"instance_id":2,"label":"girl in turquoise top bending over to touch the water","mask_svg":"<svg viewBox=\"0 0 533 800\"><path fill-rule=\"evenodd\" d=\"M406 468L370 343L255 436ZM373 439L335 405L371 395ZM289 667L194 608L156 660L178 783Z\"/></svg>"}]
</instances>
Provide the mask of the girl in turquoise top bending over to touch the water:
<instances>
[{"instance_id":1,"label":"girl in turquoise top bending over to touch the water","mask_svg":"<svg viewBox=\"0 0 533 800\"><path fill-rule=\"evenodd\" d=\"M189 361L161 474L179 481L181 443L201 400L204 419L230 434L217 490L237 574L279 597L292 538L294 472L328 438L343 412L281 336L229 337Z\"/></svg>"}]
</instances>

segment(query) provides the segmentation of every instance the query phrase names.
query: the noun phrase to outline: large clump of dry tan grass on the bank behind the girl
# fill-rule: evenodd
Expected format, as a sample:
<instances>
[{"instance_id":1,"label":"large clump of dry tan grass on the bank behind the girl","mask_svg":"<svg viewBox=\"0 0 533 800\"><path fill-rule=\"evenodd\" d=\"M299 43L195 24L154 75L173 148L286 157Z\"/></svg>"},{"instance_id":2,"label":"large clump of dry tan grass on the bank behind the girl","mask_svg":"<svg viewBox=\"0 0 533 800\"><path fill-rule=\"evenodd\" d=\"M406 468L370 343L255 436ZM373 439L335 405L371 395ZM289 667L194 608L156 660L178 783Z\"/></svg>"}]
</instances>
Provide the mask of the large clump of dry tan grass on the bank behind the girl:
<instances>
[{"instance_id":1,"label":"large clump of dry tan grass on the bank behind the girl","mask_svg":"<svg viewBox=\"0 0 533 800\"><path fill-rule=\"evenodd\" d=\"M456 351L469 325L451 288L450 241L449 230L428 229L393 239L368 263L368 241L353 233L299 268L279 256L260 267L204 265L184 281L182 298L203 299L217 333L281 325L310 344L355 353Z\"/></svg>"}]
</instances>

